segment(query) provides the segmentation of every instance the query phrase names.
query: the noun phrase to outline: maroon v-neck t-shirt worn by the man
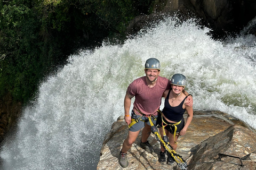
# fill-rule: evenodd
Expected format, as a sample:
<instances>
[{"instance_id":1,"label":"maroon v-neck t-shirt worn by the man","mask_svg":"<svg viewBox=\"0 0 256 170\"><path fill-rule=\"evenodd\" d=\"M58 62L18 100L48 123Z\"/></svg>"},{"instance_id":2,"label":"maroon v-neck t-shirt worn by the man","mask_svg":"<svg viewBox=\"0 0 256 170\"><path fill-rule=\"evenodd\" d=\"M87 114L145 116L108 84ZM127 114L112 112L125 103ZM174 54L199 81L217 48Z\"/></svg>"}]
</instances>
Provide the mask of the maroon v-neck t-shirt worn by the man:
<instances>
[{"instance_id":1,"label":"maroon v-neck t-shirt worn by the man","mask_svg":"<svg viewBox=\"0 0 256 170\"><path fill-rule=\"evenodd\" d=\"M146 76L135 79L128 87L128 92L135 96L133 111L146 115L157 115L157 110L161 105L162 95L166 89L171 88L171 81L158 76L153 88L148 87Z\"/></svg>"}]
</instances>

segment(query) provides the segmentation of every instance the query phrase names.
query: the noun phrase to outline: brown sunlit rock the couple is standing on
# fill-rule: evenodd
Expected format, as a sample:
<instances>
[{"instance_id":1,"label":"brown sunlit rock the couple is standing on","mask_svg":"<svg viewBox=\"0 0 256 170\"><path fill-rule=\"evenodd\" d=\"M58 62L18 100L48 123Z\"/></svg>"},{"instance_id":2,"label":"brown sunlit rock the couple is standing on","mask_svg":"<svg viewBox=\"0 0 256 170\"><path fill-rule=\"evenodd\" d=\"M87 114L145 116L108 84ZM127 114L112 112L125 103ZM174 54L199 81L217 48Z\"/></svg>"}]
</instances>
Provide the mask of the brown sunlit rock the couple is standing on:
<instances>
[{"instance_id":1,"label":"brown sunlit rock the couple is standing on","mask_svg":"<svg viewBox=\"0 0 256 170\"><path fill-rule=\"evenodd\" d=\"M123 169L118 163L118 155L127 132L124 117L120 116L103 141L98 170ZM178 139L177 153L186 160L188 169L255 170L255 134L250 126L228 114L196 111L186 135ZM141 134L128 151L129 166L126 169L180 169L177 164L158 162L160 144L154 134L149 137L155 150L153 154L140 148L140 138Z\"/></svg>"}]
</instances>

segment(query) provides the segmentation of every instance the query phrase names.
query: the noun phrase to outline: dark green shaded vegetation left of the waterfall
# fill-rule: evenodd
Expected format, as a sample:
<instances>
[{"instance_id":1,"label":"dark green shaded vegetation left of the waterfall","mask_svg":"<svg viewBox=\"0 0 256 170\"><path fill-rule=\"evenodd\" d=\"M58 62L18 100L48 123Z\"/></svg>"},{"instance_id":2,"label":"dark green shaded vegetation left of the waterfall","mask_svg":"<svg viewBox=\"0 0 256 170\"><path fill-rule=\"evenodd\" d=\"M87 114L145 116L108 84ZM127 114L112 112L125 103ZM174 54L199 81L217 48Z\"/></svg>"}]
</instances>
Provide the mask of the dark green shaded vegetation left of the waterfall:
<instances>
[{"instance_id":1,"label":"dark green shaded vegetation left of the waterfall","mask_svg":"<svg viewBox=\"0 0 256 170\"><path fill-rule=\"evenodd\" d=\"M100 44L153 0L5 0L0 2L0 97L26 103L39 81L77 49Z\"/></svg>"}]
</instances>

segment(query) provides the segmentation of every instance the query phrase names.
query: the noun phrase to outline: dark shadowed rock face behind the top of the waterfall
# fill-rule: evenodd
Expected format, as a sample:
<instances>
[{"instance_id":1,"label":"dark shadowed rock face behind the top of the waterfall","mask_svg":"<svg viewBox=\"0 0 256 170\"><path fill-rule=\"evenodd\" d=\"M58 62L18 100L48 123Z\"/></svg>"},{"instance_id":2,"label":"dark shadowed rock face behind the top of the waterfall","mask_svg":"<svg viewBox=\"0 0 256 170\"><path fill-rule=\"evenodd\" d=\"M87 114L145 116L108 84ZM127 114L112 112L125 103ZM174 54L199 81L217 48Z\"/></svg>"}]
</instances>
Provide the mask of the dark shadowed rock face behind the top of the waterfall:
<instances>
[{"instance_id":1,"label":"dark shadowed rock face behind the top of the waterfall","mask_svg":"<svg viewBox=\"0 0 256 170\"><path fill-rule=\"evenodd\" d=\"M137 32L148 27L162 15L181 14L180 18L198 18L213 31L213 36L225 36L227 32L238 33L256 15L256 2L250 0L168 0L156 1L154 12L148 16L137 16L130 22L127 32ZM254 23L256 25L256 23ZM252 30L254 31L254 30ZM256 33L248 31L248 33Z\"/></svg>"}]
</instances>

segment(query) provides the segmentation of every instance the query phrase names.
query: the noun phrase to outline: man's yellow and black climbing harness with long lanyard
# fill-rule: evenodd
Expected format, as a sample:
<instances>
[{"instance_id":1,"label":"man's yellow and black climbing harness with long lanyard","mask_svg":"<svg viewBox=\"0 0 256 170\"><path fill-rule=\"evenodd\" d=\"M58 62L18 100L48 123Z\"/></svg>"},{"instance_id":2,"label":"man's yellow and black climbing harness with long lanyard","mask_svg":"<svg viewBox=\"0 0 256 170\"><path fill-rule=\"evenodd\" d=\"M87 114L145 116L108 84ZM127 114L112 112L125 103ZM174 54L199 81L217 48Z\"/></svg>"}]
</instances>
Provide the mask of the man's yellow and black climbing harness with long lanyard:
<instances>
[{"instance_id":1,"label":"man's yellow and black climbing harness with long lanyard","mask_svg":"<svg viewBox=\"0 0 256 170\"><path fill-rule=\"evenodd\" d=\"M137 110L138 111L138 110ZM145 122L145 120L142 120L141 117L142 116L146 116L149 120L150 126L151 126L151 132L154 133L156 135L156 139L157 141L160 142L160 144L165 148L165 150L167 150L170 155L172 156L172 158L175 160L175 162L178 164L178 166L182 169L182 170L186 170L187 169L187 163L185 162L185 160L179 155L177 154L177 152L175 152L175 150L171 147L170 143L169 143L169 139L166 136L166 134L164 135L163 139L161 138L161 135L159 135L159 133L157 132L157 128L156 126L153 124L152 122L152 118L154 121L156 121L156 117L154 115L145 115L143 113L141 113L140 111L138 111L141 116L139 118L132 118L131 123L129 124L129 128L131 128L132 125L134 125L135 123L138 123L139 121L143 121ZM161 113L161 111L158 109L157 111L158 113ZM179 124L180 122L178 122ZM176 125L178 125L176 124ZM177 127L175 128L175 131L177 130ZM171 148L169 148L169 147Z\"/></svg>"}]
</instances>

